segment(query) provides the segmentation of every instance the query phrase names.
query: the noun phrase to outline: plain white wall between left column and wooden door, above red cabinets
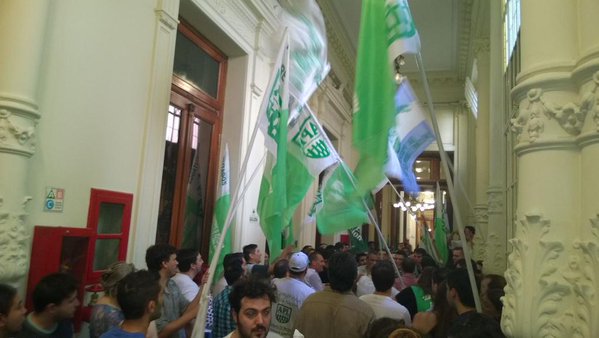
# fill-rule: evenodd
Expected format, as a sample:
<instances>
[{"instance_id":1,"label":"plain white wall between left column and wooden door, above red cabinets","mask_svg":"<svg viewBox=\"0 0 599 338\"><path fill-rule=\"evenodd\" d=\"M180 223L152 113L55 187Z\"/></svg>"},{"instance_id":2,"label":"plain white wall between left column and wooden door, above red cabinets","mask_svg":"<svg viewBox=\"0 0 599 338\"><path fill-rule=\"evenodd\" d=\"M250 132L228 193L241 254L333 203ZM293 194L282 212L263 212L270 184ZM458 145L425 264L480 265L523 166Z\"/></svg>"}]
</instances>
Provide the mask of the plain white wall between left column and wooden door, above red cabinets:
<instances>
[{"instance_id":1,"label":"plain white wall between left column and wooden door, above red cabinets","mask_svg":"<svg viewBox=\"0 0 599 338\"><path fill-rule=\"evenodd\" d=\"M52 3L31 224L85 227L90 188L136 192L155 16L145 0ZM47 186L65 189L64 212L42 211Z\"/></svg>"}]
</instances>

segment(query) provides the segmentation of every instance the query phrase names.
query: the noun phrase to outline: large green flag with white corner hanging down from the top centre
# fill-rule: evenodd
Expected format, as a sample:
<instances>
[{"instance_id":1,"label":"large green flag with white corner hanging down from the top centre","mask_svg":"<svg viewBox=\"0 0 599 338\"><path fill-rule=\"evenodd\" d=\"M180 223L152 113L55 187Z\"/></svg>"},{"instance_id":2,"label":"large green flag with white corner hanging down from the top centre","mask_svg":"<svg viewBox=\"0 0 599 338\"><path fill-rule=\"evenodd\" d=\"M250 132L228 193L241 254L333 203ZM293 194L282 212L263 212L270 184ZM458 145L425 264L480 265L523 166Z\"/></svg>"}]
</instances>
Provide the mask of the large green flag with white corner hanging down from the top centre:
<instances>
[{"instance_id":1,"label":"large green flag with white corner hanging down from the top centre","mask_svg":"<svg viewBox=\"0 0 599 338\"><path fill-rule=\"evenodd\" d=\"M355 175L362 193L384 179L396 115L394 60L417 52L419 45L406 0L362 1L353 117L353 145L360 154Z\"/></svg>"}]
</instances>

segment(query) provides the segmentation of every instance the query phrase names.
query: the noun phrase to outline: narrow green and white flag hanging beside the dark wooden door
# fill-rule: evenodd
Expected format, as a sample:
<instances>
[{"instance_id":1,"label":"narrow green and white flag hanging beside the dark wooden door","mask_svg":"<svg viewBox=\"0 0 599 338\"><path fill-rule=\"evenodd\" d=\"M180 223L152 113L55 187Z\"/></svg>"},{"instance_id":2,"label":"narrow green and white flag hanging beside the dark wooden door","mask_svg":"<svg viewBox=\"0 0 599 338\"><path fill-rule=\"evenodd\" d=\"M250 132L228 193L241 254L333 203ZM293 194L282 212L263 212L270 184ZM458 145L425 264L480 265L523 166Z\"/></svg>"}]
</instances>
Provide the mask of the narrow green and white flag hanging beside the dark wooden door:
<instances>
[{"instance_id":1,"label":"narrow green and white flag hanging beside the dark wooden door","mask_svg":"<svg viewBox=\"0 0 599 338\"><path fill-rule=\"evenodd\" d=\"M214 219L212 221L212 230L210 232L210 257L209 261L212 261L212 256L216 253L218 241L220 235L225 227L227 213L231 207L231 192L229 188L230 179L230 166L229 166L229 145L225 144L225 153L223 160L220 164L219 180L217 187L217 199L214 206ZM231 252L231 232L227 232L225 235L225 241L223 242L223 252L225 254ZM218 265L214 272L214 280L219 280L223 273L223 259L225 255L221 254L218 257Z\"/></svg>"}]
</instances>

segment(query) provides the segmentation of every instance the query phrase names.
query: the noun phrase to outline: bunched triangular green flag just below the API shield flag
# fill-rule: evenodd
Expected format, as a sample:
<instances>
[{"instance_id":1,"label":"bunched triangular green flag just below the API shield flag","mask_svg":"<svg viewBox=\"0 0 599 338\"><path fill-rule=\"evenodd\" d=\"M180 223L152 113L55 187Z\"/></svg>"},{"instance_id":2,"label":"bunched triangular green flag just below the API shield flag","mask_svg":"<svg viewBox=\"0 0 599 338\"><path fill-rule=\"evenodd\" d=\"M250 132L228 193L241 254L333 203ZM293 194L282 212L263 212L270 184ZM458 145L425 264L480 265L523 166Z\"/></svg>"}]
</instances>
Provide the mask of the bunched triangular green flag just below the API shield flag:
<instances>
[{"instance_id":1,"label":"bunched triangular green flag just below the API shield flag","mask_svg":"<svg viewBox=\"0 0 599 338\"><path fill-rule=\"evenodd\" d=\"M312 207L321 234L333 234L369 223L368 211L363 198L356 191L354 180L343 162L329 168L325 174L322 192Z\"/></svg>"}]
</instances>

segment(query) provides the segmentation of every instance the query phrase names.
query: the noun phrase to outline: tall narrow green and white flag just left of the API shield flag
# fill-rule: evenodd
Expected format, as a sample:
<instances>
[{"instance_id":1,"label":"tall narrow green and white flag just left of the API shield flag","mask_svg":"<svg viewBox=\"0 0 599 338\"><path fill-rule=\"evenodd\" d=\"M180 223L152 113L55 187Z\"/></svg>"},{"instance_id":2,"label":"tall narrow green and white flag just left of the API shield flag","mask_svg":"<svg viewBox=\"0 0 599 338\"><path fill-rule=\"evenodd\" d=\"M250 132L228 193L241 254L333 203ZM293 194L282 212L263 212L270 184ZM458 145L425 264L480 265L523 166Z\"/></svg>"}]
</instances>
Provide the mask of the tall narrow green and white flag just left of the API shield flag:
<instances>
[{"instance_id":1,"label":"tall narrow green and white flag just left of the API shield flag","mask_svg":"<svg viewBox=\"0 0 599 338\"><path fill-rule=\"evenodd\" d=\"M285 33L277 55L265 99L260 106L259 126L268 149L260 195L258 214L260 226L269 241L270 257L281 254L281 232L288 224L287 210L287 122L289 119L289 40Z\"/></svg>"}]
</instances>

